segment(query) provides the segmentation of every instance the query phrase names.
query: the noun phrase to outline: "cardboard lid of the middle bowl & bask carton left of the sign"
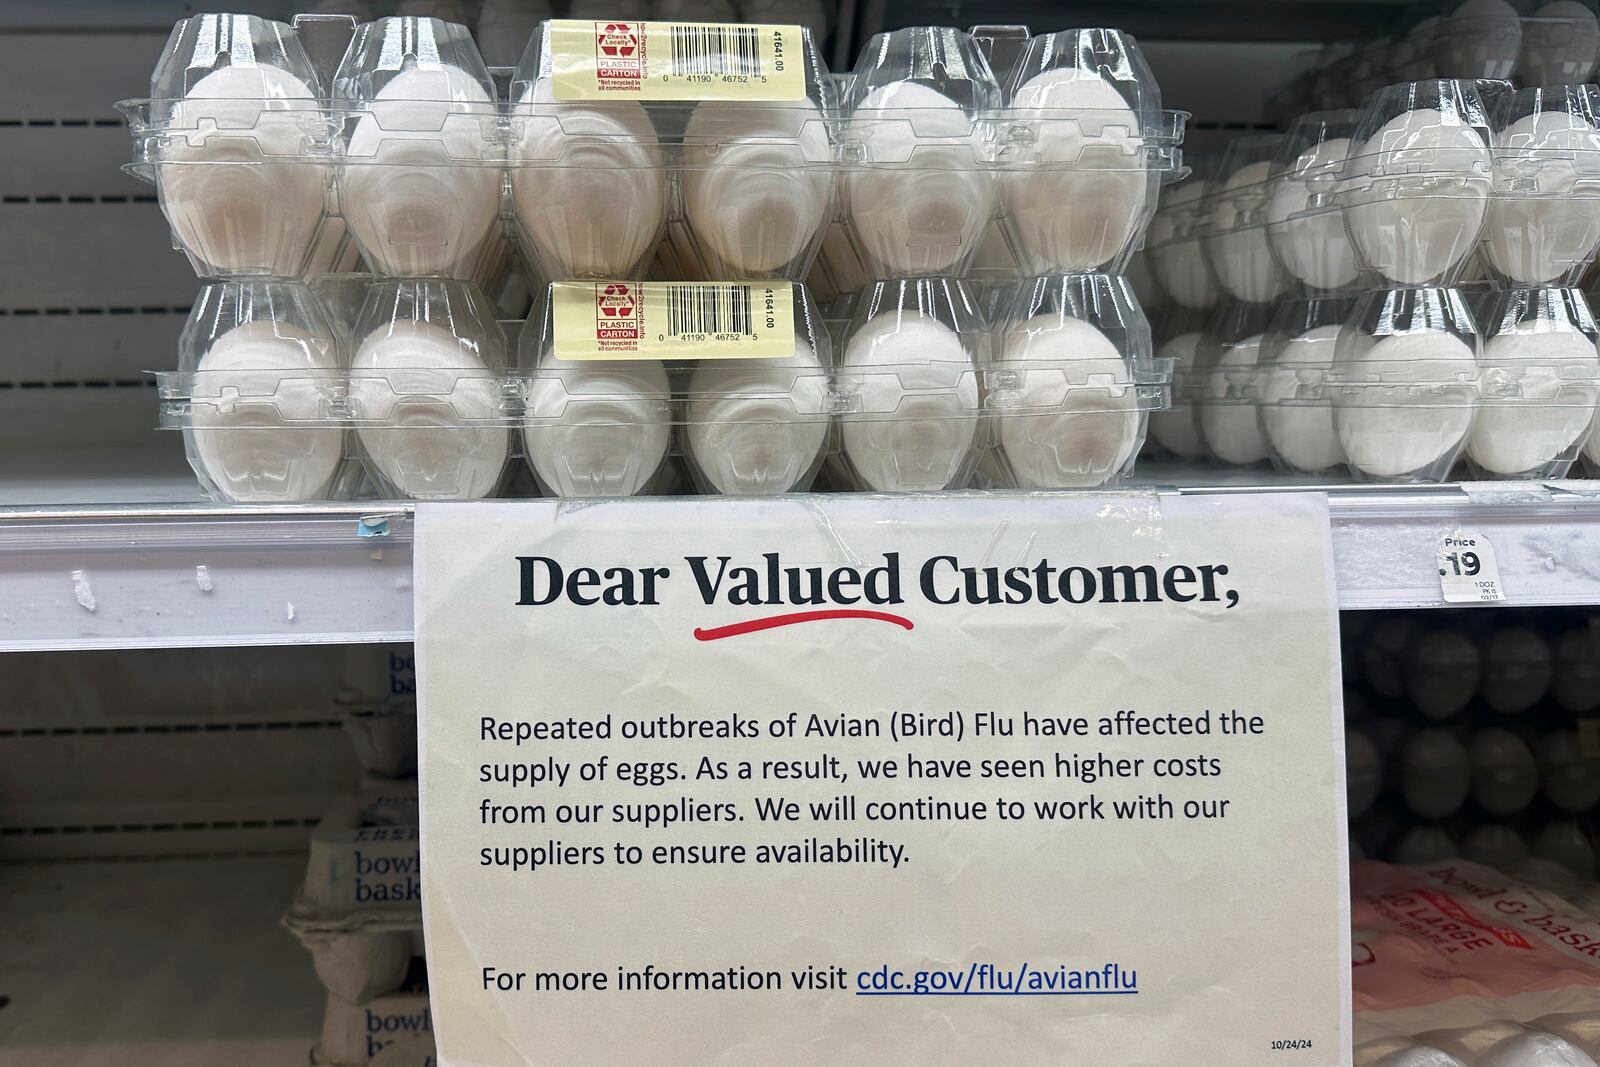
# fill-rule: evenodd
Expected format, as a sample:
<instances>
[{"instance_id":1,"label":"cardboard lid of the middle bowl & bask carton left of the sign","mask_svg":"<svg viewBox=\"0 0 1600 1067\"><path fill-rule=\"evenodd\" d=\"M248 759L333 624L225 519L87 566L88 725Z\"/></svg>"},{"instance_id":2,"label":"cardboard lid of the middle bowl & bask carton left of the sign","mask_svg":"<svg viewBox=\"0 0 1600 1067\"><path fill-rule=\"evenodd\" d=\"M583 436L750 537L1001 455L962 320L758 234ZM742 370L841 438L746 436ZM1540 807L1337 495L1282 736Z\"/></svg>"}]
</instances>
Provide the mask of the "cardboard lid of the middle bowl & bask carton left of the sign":
<instances>
[{"instance_id":1,"label":"cardboard lid of the middle bowl & bask carton left of the sign","mask_svg":"<svg viewBox=\"0 0 1600 1067\"><path fill-rule=\"evenodd\" d=\"M416 781L395 781L338 801L310 835L306 878L283 921L296 934L411 929L421 909ZM363 891L363 877L379 880ZM411 886L394 889L395 881ZM400 899L394 899L398 896Z\"/></svg>"}]
</instances>

